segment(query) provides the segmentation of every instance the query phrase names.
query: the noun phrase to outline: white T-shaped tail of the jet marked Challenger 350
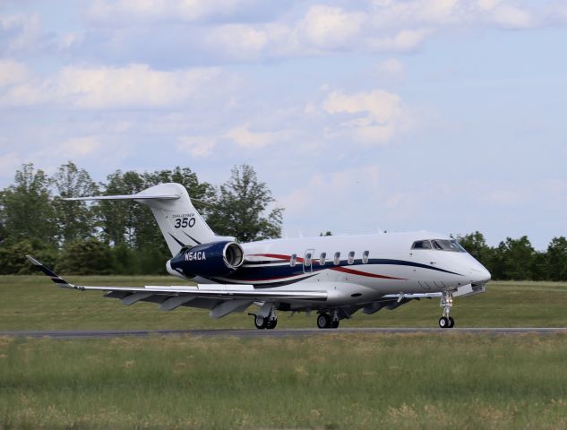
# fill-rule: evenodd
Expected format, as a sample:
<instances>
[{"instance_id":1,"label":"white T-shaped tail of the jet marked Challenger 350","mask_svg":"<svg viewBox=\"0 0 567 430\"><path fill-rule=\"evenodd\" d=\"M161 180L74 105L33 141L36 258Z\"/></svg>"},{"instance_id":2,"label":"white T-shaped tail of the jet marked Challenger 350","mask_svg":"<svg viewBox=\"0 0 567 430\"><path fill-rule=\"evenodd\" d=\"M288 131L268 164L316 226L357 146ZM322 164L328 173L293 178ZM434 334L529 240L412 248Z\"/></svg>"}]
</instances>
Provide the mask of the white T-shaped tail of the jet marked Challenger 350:
<instances>
[{"instance_id":1,"label":"white T-shaped tail of the jet marked Challenger 350","mask_svg":"<svg viewBox=\"0 0 567 430\"><path fill-rule=\"evenodd\" d=\"M99 195L65 200L133 200L150 206L172 255L178 254L185 245L220 240L195 210L185 186L180 184L159 184L132 195Z\"/></svg>"}]
</instances>

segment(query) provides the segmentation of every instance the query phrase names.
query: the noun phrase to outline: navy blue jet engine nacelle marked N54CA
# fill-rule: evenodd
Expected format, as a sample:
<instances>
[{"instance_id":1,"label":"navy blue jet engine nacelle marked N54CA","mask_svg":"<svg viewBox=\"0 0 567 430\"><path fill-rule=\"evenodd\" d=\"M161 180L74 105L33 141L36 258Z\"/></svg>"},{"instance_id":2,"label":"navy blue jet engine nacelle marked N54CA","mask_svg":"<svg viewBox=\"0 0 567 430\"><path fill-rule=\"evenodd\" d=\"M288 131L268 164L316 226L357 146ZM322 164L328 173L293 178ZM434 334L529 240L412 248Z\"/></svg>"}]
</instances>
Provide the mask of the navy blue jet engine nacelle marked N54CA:
<instances>
[{"instance_id":1,"label":"navy blue jet engine nacelle marked N54CA","mask_svg":"<svg viewBox=\"0 0 567 430\"><path fill-rule=\"evenodd\" d=\"M245 260L242 246L232 241L184 247L168 261L168 272L182 278L227 276Z\"/></svg>"}]
</instances>

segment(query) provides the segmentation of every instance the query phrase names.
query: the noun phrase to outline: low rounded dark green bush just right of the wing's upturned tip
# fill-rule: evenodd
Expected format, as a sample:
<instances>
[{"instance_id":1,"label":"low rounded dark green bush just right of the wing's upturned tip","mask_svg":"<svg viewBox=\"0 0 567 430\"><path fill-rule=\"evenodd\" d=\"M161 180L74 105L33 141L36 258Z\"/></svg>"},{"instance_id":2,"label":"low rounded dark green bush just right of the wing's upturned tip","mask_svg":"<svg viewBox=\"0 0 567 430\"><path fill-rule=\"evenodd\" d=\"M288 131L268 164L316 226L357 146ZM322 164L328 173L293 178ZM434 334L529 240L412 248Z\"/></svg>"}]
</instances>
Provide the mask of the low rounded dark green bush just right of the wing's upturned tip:
<instances>
[{"instance_id":1,"label":"low rounded dark green bush just right of the wing's upturned tip","mask_svg":"<svg viewBox=\"0 0 567 430\"><path fill-rule=\"evenodd\" d=\"M64 244L57 271L69 274L107 275L114 272L110 247L95 237Z\"/></svg>"}]
</instances>

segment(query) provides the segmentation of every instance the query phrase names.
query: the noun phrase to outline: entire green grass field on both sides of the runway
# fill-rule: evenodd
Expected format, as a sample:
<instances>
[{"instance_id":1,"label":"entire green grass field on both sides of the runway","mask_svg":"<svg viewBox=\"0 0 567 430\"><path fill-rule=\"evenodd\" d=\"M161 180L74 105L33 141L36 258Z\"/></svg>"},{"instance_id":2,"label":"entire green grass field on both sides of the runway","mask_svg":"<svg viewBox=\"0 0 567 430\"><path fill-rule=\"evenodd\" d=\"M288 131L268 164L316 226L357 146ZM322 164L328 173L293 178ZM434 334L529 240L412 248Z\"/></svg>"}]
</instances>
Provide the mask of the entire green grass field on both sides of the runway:
<instances>
[{"instance_id":1,"label":"entire green grass field on both sides of the runway","mask_svg":"<svg viewBox=\"0 0 567 430\"><path fill-rule=\"evenodd\" d=\"M94 285L160 278L82 278ZM165 313L44 277L0 277L0 330L250 328L250 317ZM567 284L491 282L456 300L465 326L566 326ZM434 327L437 300L342 326ZM314 327L314 314L279 327ZM278 330L278 329L276 329ZM0 338L0 429L567 429L567 335L341 334Z\"/></svg>"}]
</instances>

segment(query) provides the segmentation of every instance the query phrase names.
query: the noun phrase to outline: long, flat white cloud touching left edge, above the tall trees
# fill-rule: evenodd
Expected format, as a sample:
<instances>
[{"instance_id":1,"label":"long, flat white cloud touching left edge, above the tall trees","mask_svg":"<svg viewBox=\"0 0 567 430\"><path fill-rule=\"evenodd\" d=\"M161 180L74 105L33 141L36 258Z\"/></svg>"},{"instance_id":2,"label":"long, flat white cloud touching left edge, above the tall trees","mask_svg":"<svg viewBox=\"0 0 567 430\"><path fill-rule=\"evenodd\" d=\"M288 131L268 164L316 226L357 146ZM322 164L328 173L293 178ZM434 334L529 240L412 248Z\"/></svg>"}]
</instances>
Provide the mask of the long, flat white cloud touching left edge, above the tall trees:
<instances>
[{"instance_id":1,"label":"long, flat white cloud touching left edge, above the tall trees","mask_svg":"<svg viewBox=\"0 0 567 430\"><path fill-rule=\"evenodd\" d=\"M172 107L192 99L219 74L218 68L162 72L145 64L67 66L55 76L30 79L0 93L0 105L55 104L84 109Z\"/></svg>"}]
</instances>

